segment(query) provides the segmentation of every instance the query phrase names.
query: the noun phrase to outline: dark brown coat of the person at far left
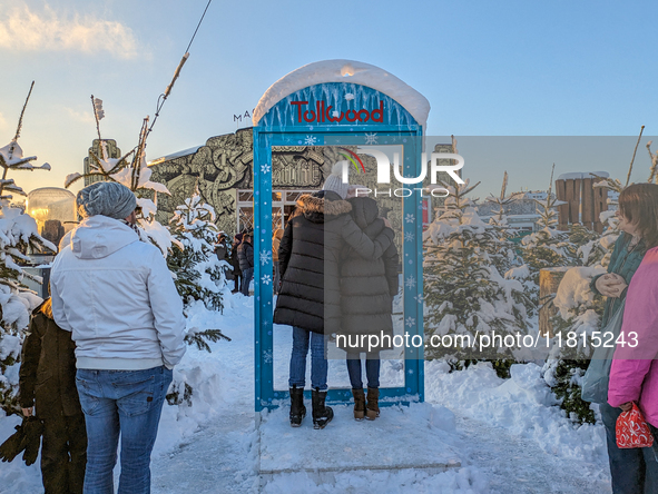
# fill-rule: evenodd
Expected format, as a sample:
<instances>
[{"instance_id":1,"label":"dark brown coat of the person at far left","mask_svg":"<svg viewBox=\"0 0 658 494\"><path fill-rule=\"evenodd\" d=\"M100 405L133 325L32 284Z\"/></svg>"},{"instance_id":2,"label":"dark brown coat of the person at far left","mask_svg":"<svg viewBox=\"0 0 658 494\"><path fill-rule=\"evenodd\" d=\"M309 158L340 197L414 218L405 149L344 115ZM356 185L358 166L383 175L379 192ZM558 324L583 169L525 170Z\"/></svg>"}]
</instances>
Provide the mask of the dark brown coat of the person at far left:
<instances>
[{"instance_id":1,"label":"dark brown coat of the person at far left","mask_svg":"<svg viewBox=\"0 0 658 494\"><path fill-rule=\"evenodd\" d=\"M45 302L32 312L30 330L23 342L19 370L19 403L37 406L39 418L82 413L76 388L76 344L71 333L52 319Z\"/></svg>"}]
</instances>

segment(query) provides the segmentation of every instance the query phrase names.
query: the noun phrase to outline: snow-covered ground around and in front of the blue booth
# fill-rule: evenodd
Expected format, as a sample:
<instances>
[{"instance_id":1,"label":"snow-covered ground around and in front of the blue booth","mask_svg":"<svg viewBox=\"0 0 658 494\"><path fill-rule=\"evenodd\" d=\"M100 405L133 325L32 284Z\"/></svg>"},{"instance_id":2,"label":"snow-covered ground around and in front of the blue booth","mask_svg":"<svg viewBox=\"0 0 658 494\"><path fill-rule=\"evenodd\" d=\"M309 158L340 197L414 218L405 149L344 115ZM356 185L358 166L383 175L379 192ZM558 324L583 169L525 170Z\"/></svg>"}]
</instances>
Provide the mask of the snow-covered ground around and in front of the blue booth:
<instances>
[{"instance_id":1,"label":"snow-covered ground around and in front of the blue booth","mask_svg":"<svg viewBox=\"0 0 658 494\"><path fill-rule=\"evenodd\" d=\"M425 404L383 408L372 423L355 423L350 407L337 406L336 418L323 431L313 431L310 416L301 428L291 428L287 407L282 407L267 414L258 431L253 412L253 298L226 295L223 315L196 305L188 325L219 328L233 340L210 344L212 353L189 347L176 368L175 379L185 379L194 394L191 406L165 405L153 455L154 493L610 492L602 427L573 426L553 406L534 364L512 367L512 377L503 381L485 364L449 374L444 364L429 362ZM276 327L275 335L275 385L283 388L289 329ZM346 386L343 367L331 363L330 385ZM382 384L399 383L402 372L400 362L384 362ZM0 417L0 441L18 422L16 416ZM400 442L395 431L404 427L418 429ZM273 441L277 435L279 443ZM359 462L345 463L360 447L376 457L391 445L405 468L362 470L354 468ZM327 457L325 449L334 454ZM423 458L434 451L445 452L451 467L407 467L426 463ZM341 461L335 452L342 452ZM317 466L321 458L338 467L298 470L302 464ZM282 473L259 476L258 468L267 465ZM384 457L381 465L386 465ZM38 463L26 467L20 457L1 463L0 491L42 492Z\"/></svg>"}]
</instances>

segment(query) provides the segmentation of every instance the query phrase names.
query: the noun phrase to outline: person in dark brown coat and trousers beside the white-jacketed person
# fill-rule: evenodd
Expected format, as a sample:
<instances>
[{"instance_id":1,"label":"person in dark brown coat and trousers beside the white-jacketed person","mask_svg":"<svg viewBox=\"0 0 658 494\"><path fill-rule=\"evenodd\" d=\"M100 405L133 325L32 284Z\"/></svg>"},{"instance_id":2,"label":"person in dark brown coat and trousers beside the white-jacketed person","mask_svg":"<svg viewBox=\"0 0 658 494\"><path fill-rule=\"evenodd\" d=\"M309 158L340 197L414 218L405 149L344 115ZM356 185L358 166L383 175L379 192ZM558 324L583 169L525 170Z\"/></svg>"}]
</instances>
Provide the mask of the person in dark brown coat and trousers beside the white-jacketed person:
<instances>
[{"instance_id":1,"label":"person in dark brown coat and trousers beside the white-jacketed person","mask_svg":"<svg viewBox=\"0 0 658 494\"><path fill-rule=\"evenodd\" d=\"M52 319L50 298L32 313L19 370L24 416L43 422L41 475L46 494L82 493L87 463L85 415L76 388L76 345Z\"/></svg>"}]
</instances>

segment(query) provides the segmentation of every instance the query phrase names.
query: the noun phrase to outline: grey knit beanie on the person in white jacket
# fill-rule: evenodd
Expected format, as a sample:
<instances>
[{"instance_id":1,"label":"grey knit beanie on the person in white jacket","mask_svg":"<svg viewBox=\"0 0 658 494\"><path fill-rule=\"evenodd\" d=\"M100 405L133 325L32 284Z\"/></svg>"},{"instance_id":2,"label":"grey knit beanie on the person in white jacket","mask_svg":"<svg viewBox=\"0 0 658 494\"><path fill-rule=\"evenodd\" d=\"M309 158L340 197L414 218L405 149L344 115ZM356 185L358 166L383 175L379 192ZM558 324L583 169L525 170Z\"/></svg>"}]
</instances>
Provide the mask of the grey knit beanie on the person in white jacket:
<instances>
[{"instance_id":1,"label":"grey knit beanie on the person in white jacket","mask_svg":"<svg viewBox=\"0 0 658 494\"><path fill-rule=\"evenodd\" d=\"M102 215L126 219L137 207L135 194L117 181L97 181L85 187L76 197L78 215L82 218Z\"/></svg>"}]
</instances>

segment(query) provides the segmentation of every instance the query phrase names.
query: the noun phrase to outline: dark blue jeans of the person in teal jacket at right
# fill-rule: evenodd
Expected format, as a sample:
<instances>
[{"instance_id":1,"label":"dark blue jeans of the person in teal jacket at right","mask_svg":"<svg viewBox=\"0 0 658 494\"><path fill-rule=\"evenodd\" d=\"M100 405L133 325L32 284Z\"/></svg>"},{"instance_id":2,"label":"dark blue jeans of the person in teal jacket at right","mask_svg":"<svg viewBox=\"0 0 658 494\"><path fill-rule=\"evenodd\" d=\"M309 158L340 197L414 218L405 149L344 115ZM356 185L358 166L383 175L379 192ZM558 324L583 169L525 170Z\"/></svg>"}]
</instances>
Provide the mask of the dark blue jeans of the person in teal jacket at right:
<instances>
[{"instance_id":1,"label":"dark blue jeans of the person in teal jacket at right","mask_svg":"<svg viewBox=\"0 0 658 494\"><path fill-rule=\"evenodd\" d=\"M621 449L617 447L615 426L621 408L600 405L606 427L608 460L612 477L612 494L649 494L658 492L658 462L650 447Z\"/></svg>"}]
</instances>

